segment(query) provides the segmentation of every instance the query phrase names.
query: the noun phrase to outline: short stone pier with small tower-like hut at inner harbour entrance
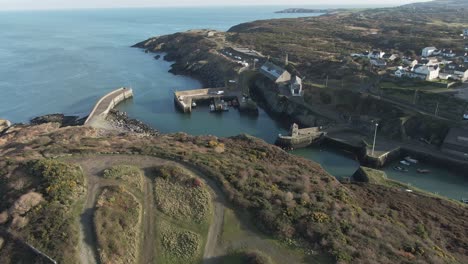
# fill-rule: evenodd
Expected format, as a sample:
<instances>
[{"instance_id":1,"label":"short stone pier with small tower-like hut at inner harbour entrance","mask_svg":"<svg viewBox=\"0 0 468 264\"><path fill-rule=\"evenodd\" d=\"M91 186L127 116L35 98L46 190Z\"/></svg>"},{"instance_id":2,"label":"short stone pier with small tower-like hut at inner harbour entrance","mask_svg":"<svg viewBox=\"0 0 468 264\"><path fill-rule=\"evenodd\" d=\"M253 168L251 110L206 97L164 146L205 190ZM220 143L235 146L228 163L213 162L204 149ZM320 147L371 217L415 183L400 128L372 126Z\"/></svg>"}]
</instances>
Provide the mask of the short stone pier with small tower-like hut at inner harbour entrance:
<instances>
[{"instance_id":1,"label":"short stone pier with small tower-like hut at inner harbour entrance","mask_svg":"<svg viewBox=\"0 0 468 264\"><path fill-rule=\"evenodd\" d=\"M318 127L299 129L299 126L294 123L291 125L289 135L278 135L275 145L287 149L304 148L319 143L325 135L326 132L321 131Z\"/></svg>"}]
</instances>

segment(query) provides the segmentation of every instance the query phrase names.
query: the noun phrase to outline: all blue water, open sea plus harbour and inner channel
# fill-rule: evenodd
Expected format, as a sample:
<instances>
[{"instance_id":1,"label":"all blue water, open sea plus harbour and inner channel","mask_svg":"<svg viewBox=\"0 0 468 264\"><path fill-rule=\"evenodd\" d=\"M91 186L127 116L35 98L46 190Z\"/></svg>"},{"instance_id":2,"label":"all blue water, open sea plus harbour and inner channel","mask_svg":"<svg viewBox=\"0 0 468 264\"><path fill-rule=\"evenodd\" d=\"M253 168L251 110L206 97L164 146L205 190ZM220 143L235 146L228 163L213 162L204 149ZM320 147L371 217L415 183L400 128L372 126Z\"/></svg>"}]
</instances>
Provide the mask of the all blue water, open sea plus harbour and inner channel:
<instances>
[{"instance_id":1,"label":"all blue water, open sea plus harbour and inner channel","mask_svg":"<svg viewBox=\"0 0 468 264\"><path fill-rule=\"evenodd\" d=\"M227 30L238 23L301 14L275 14L283 7L150 8L0 12L0 117L13 122L49 113L86 115L97 99L121 86L135 98L119 109L161 132L233 136L248 133L272 143L285 127L263 110L258 117L237 111L211 114L206 107L185 115L172 93L201 84L168 73L170 62L130 48L154 35L193 28ZM304 15L304 14L302 14ZM302 149L296 155L320 163L331 174L350 176L359 164L331 149ZM433 173L389 176L451 198L468 197L468 179L427 165Z\"/></svg>"}]
</instances>

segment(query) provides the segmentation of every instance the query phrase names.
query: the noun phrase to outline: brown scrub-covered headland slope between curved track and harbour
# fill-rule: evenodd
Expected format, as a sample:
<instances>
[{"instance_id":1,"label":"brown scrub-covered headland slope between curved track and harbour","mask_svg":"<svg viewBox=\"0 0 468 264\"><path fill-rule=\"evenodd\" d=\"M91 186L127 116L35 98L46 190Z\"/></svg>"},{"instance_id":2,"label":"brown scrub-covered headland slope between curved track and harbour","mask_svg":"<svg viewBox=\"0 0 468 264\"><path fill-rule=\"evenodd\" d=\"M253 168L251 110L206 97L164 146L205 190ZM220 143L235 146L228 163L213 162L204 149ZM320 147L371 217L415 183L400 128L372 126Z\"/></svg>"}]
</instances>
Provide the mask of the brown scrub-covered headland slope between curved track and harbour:
<instances>
[{"instance_id":1,"label":"brown scrub-covered headland slope between curved track and harbour","mask_svg":"<svg viewBox=\"0 0 468 264\"><path fill-rule=\"evenodd\" d=\"M3 186L21 177L18 168L25 161L43 156L116 151L152 155L191 164L217 182L236 210L250 212L260 230L293 247L329 254L337 262L468 261L466 207L399 187L343 185L317 164L249 136L102 136L90 128L51 129L45 124L17 128L0 139L7 139L0 145ZM24 146L29 151L23 151ZM8 210L23 192L27 190L10 189L0 211ZM44 203L43 208L52 207ZM11 222L2 226L15 228ZM51 228L40 221L29 226ZM50 248L50 253L58 255L55 250Z\"/></svg>"}]
</instances>

